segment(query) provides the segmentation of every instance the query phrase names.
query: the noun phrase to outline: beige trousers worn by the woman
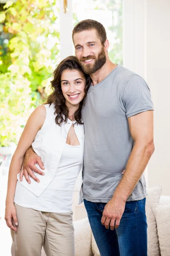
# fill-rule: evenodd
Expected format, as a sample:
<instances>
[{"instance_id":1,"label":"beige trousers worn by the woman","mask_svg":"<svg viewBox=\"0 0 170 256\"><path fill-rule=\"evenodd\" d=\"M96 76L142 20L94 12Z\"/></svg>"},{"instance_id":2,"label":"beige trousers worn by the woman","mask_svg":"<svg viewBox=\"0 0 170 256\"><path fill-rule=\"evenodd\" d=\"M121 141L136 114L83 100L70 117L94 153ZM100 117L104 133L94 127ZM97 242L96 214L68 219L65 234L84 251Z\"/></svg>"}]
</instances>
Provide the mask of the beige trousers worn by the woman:
<instances>
[{"instance_id":1,"label":"beige trousers worn by the woman","mask_svg":"<svg viewBox=\"0 0 170 256\"><path fill-rule=\"evenodd\" d=\"M74 256L73 212L41 212L15 204L17 232L11 230L15 256Z\"/></svg>"}]
</instances>

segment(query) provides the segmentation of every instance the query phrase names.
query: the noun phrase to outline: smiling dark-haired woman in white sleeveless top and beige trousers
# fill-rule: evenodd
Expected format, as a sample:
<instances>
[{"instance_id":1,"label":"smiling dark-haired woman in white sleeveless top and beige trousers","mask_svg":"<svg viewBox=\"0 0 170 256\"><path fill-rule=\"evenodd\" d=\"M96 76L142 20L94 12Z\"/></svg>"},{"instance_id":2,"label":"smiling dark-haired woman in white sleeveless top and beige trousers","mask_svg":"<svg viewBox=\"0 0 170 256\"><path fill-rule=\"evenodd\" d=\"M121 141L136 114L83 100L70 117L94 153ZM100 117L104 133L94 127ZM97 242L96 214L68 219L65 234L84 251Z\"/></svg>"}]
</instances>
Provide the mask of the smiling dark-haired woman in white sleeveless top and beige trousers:
<instances>
[{"instance_id":1,"label":"smiling dark-haired woman in white sleeveless top and beige trousers","mask_svg":"<svg viewBox=\"0 0 170 256\"><path fill-rule=\"evenodd\" d=\"M40 255L42 245L47 256L51 248L55 253L62 252L61 256L75 255L71 205L75 180L82 170L81 110L90 84L90 77L83 73L76 57L61 61L51 81L53 93L31 114L20 137L9 169L5 214L18 256ZM37 160L36 168L43 168L40 184L33 175L20 176L30 146L44 163L42 167ZM62 235L56 233L57 228Z\"/></svg>"}]
</instances>

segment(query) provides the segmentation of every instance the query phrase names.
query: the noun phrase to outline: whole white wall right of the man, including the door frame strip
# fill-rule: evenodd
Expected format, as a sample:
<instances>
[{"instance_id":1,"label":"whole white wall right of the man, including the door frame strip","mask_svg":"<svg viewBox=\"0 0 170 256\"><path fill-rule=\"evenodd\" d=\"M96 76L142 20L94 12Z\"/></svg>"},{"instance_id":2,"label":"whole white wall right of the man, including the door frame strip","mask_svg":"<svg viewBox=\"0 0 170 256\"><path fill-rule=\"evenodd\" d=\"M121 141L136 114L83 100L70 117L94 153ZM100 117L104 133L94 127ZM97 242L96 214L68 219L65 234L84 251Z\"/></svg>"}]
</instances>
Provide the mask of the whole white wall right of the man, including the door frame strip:
<instances>
[{"instance_id":1,"label":"whole white wall right of the man, including the door frame strip","mask_svg":"<svg viewBox=\"0 0 170 256\"><path fill-rule=\"evenodd\" d=\"M147 186L170 195L170 0L124 0L124 65L146 79L154 103Z\"/></svg>"}]
</instances>

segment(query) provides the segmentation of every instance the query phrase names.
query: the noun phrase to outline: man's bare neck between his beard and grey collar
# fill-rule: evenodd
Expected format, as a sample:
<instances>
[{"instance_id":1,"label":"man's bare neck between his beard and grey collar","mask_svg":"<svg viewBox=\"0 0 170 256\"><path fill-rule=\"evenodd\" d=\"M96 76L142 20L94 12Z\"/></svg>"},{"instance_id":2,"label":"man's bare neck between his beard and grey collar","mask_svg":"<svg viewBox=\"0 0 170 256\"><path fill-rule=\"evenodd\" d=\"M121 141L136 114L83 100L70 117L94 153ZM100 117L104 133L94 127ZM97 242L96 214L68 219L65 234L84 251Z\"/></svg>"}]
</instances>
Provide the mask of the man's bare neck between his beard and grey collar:
<instances>
[{"instance_id":1,"label":"man's bare neck between his beard and grey collar","mask_svg":"<svg viewBox=\"0 0 170 256\"><path fill-rule=\"evenodd\" d=\"M101 82L116 66L116 64L107 59L106 63L99 70L90 75L92 84L95 85Z\"/></svg>"}]
</instances>

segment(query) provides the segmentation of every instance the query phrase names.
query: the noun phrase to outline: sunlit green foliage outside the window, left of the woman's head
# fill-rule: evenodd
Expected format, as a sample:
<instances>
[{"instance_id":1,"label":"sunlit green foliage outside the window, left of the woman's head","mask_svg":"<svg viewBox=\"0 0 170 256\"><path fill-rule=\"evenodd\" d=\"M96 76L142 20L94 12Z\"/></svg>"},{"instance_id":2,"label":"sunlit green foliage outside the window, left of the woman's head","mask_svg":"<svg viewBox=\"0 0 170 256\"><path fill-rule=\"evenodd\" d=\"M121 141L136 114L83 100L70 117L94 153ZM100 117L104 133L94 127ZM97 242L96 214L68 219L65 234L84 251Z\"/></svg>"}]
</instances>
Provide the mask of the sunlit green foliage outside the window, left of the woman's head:
<instances>
[{"instance_id":1,"label":"sunlit green foliage outside the window, left of the woman's head","mask_svg":"<svg viewBox=\"0 0 170 256\"><path fill-rule=\"evenodd\" d=\"M28 117L28 110L35 108L46 95L49 79L59 63L59 1L8 1L3 9L0 145L8 145L17 142L25 122L23 117Z\"/></svg>"}]
</instances>

